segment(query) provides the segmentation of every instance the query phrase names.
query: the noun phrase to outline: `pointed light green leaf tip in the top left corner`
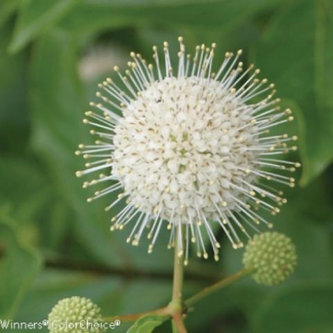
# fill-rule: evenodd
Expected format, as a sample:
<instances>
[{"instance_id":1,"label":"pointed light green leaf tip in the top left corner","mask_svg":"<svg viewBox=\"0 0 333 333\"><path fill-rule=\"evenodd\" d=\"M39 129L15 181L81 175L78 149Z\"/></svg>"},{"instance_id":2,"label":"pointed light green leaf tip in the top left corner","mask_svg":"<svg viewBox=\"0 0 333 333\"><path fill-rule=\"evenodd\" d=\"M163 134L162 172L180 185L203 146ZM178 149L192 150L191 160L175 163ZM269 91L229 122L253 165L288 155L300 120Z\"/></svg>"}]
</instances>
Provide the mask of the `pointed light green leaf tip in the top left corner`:
<instances>
[{"instance_id":1,"label":"pointed light green leaf tip in the top left corner","mask_svg":"<svg viewBox=\"0 0 333 333\"><path fill-rule=\"evenodd\" d=\"M22 0L9 51L14 53L56 24L78 0Z\"/></svg>"}]
</instances>

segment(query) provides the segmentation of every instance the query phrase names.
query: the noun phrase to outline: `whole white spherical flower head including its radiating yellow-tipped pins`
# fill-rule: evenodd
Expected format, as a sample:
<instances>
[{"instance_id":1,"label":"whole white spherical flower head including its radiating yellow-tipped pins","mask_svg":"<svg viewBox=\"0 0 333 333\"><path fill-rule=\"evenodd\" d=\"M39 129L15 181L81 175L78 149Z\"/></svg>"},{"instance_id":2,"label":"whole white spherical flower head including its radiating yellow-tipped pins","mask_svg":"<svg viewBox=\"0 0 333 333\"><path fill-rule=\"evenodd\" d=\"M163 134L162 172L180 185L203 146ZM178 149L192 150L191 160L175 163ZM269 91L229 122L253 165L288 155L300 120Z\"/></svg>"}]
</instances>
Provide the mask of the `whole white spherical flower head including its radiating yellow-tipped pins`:
<instances>
[{"instance_id":1,"label":"whole white spherical flower head including its radiating yellow-tipped pins","mask_svg":"<svg viewBox=\"0 0 333 333\"><path fill-rule=\"evenodd\" d=\"M219 258L212 223L221 225L234 248L243 246L237 230L250 237L248 228L258 232L260 223L271 227L255 210L276 214L287 200L281 191L257 182L265 178L293 187L293 178L275 171L295 171L300 164L278 158L296 149L288 146L296 137L269 134L272 127L293 119L291 110L280 110L274 85L257 78L259 69L251 65L244 70L238 61L241 50L235 56L225 53L213 72L215 44L197 46L191 58L181 37L179 42L175 73L167 42L164 69L156 46L155 66L131 53L126 75L114 68L119 84L108 78L99 85L103 93L97 96L104 103L91 105L101 113L88 111L91 120L84 119L101 139L92 146L79 145L76 154L93 160L77 176L108 170L84 183L110 182L88 201L116 192L117 200L107 210L126 203L112 218L111 230L132 224L128 242L137 245L150 228L151 252L163 222L169 221L169 247L177 243L186 264L189 241L196 243L199 257L207 258L203 232Z\"/></svg>"}]
</instances>

